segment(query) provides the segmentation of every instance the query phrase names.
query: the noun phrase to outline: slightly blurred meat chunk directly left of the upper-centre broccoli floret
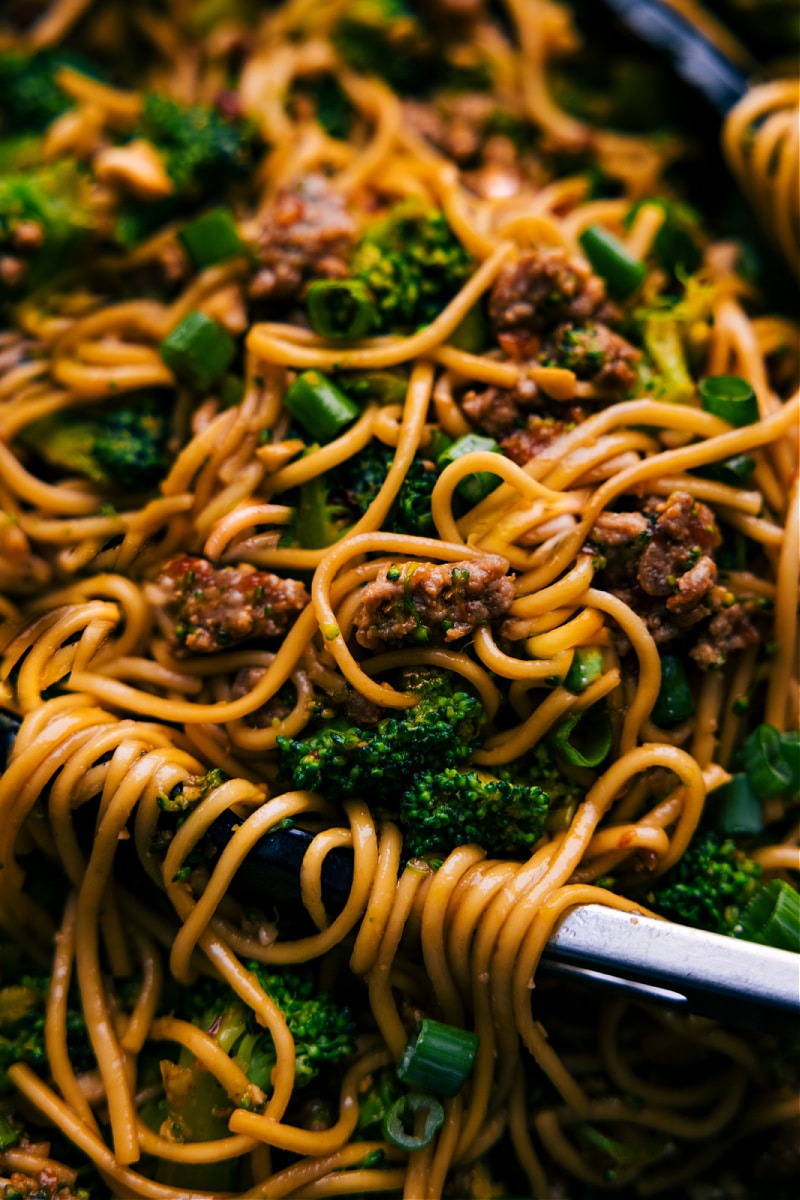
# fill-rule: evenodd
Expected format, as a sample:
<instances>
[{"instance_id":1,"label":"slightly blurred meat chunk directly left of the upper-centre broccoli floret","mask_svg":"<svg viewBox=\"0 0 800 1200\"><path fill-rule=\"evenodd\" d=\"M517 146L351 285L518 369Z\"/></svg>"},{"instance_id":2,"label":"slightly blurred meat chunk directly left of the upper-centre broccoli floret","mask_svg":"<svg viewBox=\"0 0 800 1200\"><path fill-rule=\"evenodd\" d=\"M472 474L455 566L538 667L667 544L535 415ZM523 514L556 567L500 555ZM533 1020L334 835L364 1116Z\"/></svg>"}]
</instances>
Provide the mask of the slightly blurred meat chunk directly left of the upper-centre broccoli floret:
<instances>
[{"instance_id":1,"label":"slightly blurred meat chunk directly left of the upper-centre broccoli floret","mask_svg":"<svg viewBox=\"0 0 800 1200\"><path fill-rule=\"evenodd\" d=\"M282 188L260 232L260 269L251 295L255 300L295 300L311 278L345 276L355 233L344 198L321 175Z\"/></svg>"}]
</instances>

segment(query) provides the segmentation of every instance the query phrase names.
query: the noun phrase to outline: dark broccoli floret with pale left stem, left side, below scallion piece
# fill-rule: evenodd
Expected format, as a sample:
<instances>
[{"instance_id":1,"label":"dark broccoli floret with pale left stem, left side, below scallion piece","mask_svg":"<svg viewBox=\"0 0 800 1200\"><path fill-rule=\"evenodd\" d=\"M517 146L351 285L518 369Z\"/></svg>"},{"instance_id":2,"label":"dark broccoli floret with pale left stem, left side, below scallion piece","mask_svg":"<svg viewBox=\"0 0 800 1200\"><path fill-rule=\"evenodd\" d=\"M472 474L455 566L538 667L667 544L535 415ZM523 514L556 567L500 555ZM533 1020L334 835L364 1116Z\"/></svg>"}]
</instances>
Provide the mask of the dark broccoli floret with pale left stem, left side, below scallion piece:
<instances>
[{"instance_id":1,"label":"dark broccoli floret with pale left stem, left side, below scallion piece","mask_svg":"<svg viewBox=\"0 0 800 1200\"><path fill-rule=\"evenodd\" d=\"M151 394L121 408L65 409L29 425L23 440L52 467L140 492L167 470L169 409Z\"/></svg>"}]
</instances>

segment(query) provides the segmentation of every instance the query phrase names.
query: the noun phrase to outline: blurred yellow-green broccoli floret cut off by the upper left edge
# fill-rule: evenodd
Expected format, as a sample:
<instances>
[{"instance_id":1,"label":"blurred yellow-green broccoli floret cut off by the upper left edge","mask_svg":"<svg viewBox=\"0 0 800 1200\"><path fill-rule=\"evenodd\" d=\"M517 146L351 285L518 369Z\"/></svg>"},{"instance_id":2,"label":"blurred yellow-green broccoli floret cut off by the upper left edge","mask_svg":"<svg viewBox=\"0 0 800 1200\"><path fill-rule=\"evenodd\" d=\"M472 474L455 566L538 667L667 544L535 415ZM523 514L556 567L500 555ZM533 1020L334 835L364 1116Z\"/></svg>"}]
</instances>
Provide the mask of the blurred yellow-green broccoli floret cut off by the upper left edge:
<instances>
[{"instance_id":1,"label":"blurred yellow-green broccoli floret cut off by the upper left edge","mask_svg":"<svg viewBox=\"0 0 800 1200\"><path fill-rule=\"evenodd\" d=\"M94 226L89 178L76 163L0 175L0 254L11 290L61 270Z\"/></svg>"}]
</instances>

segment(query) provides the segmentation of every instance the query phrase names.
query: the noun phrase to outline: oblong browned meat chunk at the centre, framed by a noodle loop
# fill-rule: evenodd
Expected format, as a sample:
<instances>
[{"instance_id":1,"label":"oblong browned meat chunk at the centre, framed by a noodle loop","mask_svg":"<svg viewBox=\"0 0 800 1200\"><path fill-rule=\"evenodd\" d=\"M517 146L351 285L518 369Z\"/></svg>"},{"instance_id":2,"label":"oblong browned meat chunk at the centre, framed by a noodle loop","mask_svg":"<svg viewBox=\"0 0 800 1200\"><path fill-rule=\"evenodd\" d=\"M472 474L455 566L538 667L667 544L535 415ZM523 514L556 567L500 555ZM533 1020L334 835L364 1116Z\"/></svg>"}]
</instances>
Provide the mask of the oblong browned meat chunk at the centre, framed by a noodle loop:
<instances>
[{"instance_id":1,"label":"oblong browned meat chunk at the centre, framed by a noodle loop","mask_svg":"<svg viewBox=\"0 0 800 1200\"><path fill-rule=\"evenodd\" d=\"M455 642L513 600L509 563L495 554L462 563L405 563L384 568L363 589L356 640L368 650L419 642Z\"/></svg>"}]
</instances>

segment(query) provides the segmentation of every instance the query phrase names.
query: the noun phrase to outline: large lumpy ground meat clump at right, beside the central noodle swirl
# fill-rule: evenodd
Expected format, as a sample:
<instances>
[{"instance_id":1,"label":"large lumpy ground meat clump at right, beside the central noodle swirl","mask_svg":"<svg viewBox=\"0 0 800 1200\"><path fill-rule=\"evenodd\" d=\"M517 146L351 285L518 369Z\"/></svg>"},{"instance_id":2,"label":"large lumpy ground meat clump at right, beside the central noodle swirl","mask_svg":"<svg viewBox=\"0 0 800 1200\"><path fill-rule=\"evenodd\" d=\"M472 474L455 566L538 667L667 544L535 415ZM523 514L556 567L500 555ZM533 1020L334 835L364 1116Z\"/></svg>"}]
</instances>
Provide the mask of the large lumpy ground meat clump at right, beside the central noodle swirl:
<instances>
[{"instance_id":1,"label":"large lumpy ground meat clump at right, beside the central noodle swirl","mask_svg":"<svg viewBox=\"0 0 800 1200\"><path fill-rule=\"evenodd\" d=\"M711 509L686 492L651 496L640 512L603 512L590 539L603 559L597 584L625 600L657 644L693 630L691 658L721 666L759 640L747 606L717 582L721 540Z\"/></svg>"}]
</instances>

